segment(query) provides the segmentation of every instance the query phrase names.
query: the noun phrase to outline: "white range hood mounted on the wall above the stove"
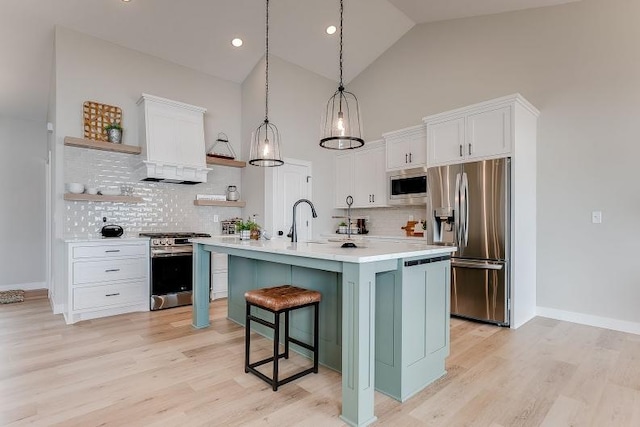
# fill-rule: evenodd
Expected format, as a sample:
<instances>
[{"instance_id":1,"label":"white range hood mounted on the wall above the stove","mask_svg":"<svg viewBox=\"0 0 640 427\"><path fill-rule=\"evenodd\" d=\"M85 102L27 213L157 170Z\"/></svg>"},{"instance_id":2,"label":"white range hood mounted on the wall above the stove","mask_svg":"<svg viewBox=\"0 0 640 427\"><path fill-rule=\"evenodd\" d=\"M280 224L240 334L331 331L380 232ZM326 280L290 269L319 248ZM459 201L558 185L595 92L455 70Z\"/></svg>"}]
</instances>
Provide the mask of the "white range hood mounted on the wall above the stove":
<instances>
[{"instance_id":1,"label":"white range hood mounted on the wall above the stove","mask_svg":"<svg viewBox=\"0 0 640 427\"><path fill-rule=\"evenodd\" d=\"M196 107L142 94L138 100L143 181L207 182L204 113Z\"/></svg>"}]
</instances>

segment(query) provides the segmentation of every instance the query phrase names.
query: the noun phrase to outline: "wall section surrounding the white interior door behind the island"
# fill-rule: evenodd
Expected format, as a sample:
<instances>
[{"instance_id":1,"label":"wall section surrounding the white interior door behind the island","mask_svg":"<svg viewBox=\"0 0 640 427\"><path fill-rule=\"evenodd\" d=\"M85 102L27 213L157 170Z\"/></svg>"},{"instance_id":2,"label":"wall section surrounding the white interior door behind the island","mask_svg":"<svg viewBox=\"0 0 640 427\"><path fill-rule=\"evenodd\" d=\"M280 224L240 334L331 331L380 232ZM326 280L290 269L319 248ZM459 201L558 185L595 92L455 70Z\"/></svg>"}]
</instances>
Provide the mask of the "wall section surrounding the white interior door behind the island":
<instances>
[{"instance_id":1,"label":"wall section surrounding the white interior door behind the island","mask_svg":"<svg viewBox=\"0 0 640 427\"><path fill-rule=\"evenodd\" d=\"M242 84L245 158L249 157L251 132L264 120L264 79L263 60ZM314 236L329 232L336 223L331 219L337 213L333 209L335 152L319 145L321 114L336 88L336 82L269 56L269 120L280 131L282 157L312 162L312 202L318 212L318 218L313 220ZM264 177L264 168L247 166L243 171L247 215L257 213L261 218L265 217ZM287 231L284 230L285 233Z\"/></svg>"}]
</instances>

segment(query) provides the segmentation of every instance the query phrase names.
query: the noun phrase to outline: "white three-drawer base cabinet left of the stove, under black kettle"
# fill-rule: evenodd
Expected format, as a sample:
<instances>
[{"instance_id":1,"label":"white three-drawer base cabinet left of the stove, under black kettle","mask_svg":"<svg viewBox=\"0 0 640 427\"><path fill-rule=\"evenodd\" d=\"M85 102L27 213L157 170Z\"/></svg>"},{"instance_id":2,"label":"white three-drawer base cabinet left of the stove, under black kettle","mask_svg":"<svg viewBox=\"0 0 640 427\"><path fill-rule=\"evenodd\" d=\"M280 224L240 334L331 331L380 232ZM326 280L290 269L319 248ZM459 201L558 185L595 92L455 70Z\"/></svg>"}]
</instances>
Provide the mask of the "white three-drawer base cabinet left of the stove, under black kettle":
<instances>
[{"instance_id":1,"label":"white three-drawer base cabinet left of the stove, under black kettle","mask_svg":"<svg viewBox=\"0 0 640 427\"><path fill-rule=\"evenodd\" d=\"M149 310L149 241L114 239L66 244L68 324Z\"/></svg>"}]
</instances>

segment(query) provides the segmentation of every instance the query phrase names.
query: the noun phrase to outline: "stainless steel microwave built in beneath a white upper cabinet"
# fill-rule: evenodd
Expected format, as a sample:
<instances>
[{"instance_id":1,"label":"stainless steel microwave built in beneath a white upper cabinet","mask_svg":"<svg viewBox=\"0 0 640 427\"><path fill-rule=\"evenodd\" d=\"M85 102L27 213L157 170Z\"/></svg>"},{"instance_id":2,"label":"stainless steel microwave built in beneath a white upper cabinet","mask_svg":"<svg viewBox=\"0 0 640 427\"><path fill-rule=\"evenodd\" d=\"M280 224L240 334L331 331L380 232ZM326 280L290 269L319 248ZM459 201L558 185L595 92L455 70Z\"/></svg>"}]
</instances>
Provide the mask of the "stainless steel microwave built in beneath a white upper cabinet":
<instances>
[{"instance_id":1,"label":"stainless steel microwave built in beneath a white upper cabinet","mask_svg":"<svg viewBox=\"0 0 640 427\"><path fill-rule=\"evenodd\" d=\"M427 203L427 168L388 172L387 177L390 205Z\"/></svg>"}]
</instances>

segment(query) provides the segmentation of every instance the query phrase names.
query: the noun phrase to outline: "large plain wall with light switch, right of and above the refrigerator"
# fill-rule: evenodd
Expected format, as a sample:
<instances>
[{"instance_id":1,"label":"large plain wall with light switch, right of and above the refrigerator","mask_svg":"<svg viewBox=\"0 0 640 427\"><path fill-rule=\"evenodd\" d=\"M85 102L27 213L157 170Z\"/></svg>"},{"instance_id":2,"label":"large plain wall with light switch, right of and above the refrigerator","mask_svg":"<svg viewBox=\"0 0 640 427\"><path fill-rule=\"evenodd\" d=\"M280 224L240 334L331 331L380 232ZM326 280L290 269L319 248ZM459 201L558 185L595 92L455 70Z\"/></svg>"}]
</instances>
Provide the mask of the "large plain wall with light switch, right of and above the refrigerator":
<instances>
[{"instance_id":1,"label":"large plain wall with light switch, right of and above the refrigerator","mask_svg":"<svg viewBox=\"0 0 640 427\"><path fill-rule=\"evenodd\" d=\"M583 0L419 25L349 87L369 139L522 93L541 111L538 306L636 331L638 16L637 1ZM602 224L591 224L593 210L603 211Z\"/></svg>"}]
</instances>

